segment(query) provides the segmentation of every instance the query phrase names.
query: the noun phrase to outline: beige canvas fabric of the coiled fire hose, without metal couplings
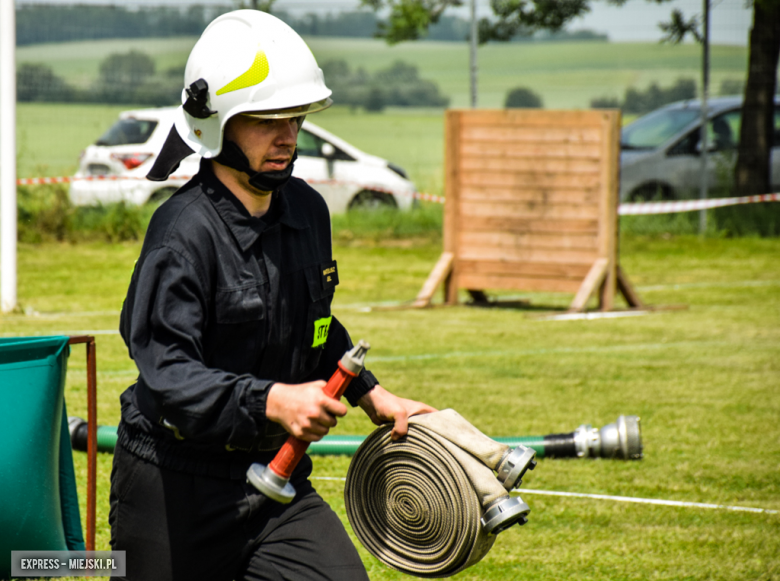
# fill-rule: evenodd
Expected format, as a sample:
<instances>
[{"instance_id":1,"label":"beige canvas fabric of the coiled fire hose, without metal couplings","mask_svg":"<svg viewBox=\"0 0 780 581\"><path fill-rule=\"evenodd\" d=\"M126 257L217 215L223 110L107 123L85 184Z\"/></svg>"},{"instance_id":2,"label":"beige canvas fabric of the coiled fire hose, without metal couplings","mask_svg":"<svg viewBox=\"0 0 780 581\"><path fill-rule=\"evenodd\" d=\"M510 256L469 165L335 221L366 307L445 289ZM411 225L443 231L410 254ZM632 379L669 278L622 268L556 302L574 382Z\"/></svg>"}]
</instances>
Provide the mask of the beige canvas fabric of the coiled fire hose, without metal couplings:
<instances>
[{"instance_id":1,"label":"beige canvas fabric of the coiled fire hose, without metal couplings","mask_svg":"<svg viewBox=\"0 0 780 581\"><path fill-rule=\"evenodd\" d=\"M347 472L344 499L358 539L386 565L448 577L479 562L496 536L480 519L508 492L493 473L508 446L454 410L409 418L405 438L377 428Z\"/></svg>"}]
</instances>

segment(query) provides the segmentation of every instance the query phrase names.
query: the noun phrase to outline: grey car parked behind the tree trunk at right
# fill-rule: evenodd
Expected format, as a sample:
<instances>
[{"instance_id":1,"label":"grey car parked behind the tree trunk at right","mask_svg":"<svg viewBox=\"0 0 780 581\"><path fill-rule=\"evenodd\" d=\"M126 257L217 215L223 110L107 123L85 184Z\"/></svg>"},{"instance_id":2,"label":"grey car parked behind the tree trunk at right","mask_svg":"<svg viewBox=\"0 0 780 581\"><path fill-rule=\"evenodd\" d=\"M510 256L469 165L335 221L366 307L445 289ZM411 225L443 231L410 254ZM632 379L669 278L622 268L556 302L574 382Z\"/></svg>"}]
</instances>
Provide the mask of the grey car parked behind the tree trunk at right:
<instances>
[{"instance_id":1,"label":"grey car parked behind the tree trunk at right","mask_svg":"<svg viewBox=\"0 0 780 581\"><path fill-rule=\"evenodd\" d=\"M708 100L707 183L710 190L728 188L739 144L742 97ZM620 154L620 199L696 197L701 183L701 103L672 103L623 128ZM775 97L772 148L773 191L780 188L780 97Z\"/></svg>"}]
</instances>

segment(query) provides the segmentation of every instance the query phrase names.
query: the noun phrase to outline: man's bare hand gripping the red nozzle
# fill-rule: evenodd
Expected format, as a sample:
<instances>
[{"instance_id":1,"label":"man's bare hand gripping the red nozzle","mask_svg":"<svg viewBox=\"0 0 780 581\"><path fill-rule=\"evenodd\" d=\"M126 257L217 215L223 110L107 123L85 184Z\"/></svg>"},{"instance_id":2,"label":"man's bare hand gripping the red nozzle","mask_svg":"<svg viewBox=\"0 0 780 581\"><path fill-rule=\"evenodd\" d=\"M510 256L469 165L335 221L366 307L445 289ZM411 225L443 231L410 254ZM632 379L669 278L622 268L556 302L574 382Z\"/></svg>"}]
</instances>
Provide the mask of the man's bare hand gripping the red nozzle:
<instances>
[{"instance_id":1,"label":"man's bare hand gripping the red nozzle","mask_svg":"<svg viewBox=\"0 0 780 581\"><path fill-rule=\"evenodd\" d=\"M266 417L306 442L318 442L336 425L336 416L347 414L347 406L322 392L324 381L298 385L274 383L265 402Z\"/></svg>"}]
</instances>

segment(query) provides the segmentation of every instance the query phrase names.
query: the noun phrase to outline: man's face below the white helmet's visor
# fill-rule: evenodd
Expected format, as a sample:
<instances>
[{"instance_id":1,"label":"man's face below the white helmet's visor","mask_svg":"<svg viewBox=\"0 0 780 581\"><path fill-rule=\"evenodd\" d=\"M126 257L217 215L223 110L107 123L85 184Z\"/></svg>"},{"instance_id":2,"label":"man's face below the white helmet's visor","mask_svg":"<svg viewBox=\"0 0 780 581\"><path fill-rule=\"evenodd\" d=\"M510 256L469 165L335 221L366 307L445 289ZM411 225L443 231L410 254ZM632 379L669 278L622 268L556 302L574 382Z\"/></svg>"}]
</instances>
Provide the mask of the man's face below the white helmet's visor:
<instances>
[{"instance_id":1,"label":"man's face below the white helmet's visor","mask_svg":"<svg viewBox=\"0 0 780 581\"><path fill-rule=\"evenodd\" d=\"M225 126L225 138L241 148L254 171L280 171L289 165L295 151L299 119L236 115Z\"/></svg>"}]
</instances>

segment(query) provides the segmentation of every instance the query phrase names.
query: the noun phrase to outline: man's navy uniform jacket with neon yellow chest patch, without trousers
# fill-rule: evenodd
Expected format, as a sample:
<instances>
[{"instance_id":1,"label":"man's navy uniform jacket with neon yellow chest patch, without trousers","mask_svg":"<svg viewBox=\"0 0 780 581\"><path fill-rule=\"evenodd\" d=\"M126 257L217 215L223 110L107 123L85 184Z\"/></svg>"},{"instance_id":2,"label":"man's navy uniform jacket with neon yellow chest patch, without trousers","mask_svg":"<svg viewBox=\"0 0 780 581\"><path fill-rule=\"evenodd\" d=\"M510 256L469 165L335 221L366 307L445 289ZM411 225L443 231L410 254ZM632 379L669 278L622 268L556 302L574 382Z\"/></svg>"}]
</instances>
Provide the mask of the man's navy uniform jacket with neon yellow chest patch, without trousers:
<instances>
[{"instance_id":1,"label":"man's navy uniform jacket with neon yellow chest patch, without trousers","mask_svg":"<svg viewBox=\"0 0 780 581\"><path fill-rule=\"evenodd\" d=\"M121 396L119 444L198 473L238 474L278 449L287 434L265 417L270 386L327 380L352 346L331 316L337 284L315 190L292 178L255 218L203 161L155 212L122 308L139 377ZM347 399L376 384L363 371Z\"/></svg>"}]
</instances>

